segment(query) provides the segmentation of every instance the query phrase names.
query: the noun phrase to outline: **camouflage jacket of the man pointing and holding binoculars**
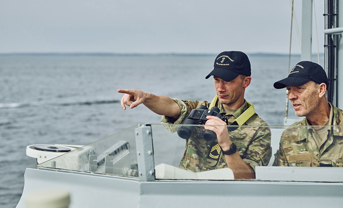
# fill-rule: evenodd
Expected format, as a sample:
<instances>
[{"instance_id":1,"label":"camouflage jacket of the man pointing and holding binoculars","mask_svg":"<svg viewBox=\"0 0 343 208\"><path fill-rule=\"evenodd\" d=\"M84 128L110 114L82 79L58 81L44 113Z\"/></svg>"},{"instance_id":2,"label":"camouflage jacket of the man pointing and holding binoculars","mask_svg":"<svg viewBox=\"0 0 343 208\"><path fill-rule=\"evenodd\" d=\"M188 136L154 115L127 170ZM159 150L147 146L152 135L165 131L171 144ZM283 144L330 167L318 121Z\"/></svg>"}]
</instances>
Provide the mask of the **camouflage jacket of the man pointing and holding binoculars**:
<instances>
[{"instance_id":1,"label":"camouflage jacket of the man pointing and holding binoculars","mask_svg":"<svg viewBox=\"0 0 343 208\"><path fill-rule=\"evenodd\" d=\"M207 101L181 101L179 99L174 99L174 101L180 106L180 117L175 120L172 117L163 116L162 124L182 124L192 109L199 108L200 105L205 105L206 107L210 105ZM215 106L220 109L220 114L223 117L228 118L229 124L248 108L247 102L245 101L233 115L229 115L225 113L219 101ZM255 166L266 166L269 163L272 154L270 146L271 132L267 123L259 118L256 113L247 120L245 125L255 127L239 128L230 131L229 137L236 144L237 151L243 161L255 171ZM169 130L176 131L177 129ZM210 157L210 153L212 153L211 155L217 156L217 158ZM217 142L210 143L201 137L194 138L191 136L189 139L186 139L186 149L179 167L193 172L200 172L227 167L227 164L225 156Z\"/></svg>"}]
</instances>

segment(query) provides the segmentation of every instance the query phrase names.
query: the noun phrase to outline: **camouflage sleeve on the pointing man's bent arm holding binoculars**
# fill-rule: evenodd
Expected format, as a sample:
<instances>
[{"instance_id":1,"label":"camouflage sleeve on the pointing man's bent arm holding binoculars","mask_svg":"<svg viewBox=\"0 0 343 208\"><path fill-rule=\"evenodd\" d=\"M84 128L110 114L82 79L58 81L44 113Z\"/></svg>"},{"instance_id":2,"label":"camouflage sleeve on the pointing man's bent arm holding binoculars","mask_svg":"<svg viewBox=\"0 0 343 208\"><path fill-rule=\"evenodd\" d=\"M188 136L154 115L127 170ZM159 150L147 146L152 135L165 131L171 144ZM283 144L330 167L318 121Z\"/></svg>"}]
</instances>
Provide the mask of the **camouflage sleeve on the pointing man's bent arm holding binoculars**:
<instances>
[{"instance_id":1,"label":"camouflage sleeve on the pointing man's bent arm holding binoculars","mask_svg":"<svg viewBox=\"0 0 343 208\"><path fill-rule=\"evenodd\" d=\"M254 171L256 166L267 166L269 164L272 147L270 146L271 131L268 126L259 127L250 145L243 156L243 161Z\"/></svg>"}]
</instances>

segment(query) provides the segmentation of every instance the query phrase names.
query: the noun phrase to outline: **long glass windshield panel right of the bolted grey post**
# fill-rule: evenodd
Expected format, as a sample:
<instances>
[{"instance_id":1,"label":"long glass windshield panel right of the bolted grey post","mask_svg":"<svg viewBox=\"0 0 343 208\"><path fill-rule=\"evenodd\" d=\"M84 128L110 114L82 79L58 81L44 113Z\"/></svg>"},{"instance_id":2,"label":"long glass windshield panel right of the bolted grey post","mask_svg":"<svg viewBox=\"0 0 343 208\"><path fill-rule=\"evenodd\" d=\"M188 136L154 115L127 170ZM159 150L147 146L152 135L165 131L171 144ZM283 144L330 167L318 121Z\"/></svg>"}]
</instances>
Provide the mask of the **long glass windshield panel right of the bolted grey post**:
<instances>
[{"instance_id":1,"label":"long glass windshield panel right of the bolted grey post","mask_svg":"<svg viewBox=\"0 0 343 208\"><path fill-rule=\"evenodd\" d=\"M239 178L239 174L233 174L235 170L218 171L228 167L225 155L216 135L204 129L204 125L153 124L151 127L156 179ZM277 181L343 181L343 126L216 127L229 128L229 138L235 143L241 159L254 170L255 180L275 180L271 178L276 175ZM291 173L284 171L284 167L292 169ZM298 168L294 172L295 167ZM331 176L326 177L322 171L341 179L330 179ZM240 172L244 173L244 170ZM304 174L313 178L304 178Z\"/></svg>"}]
</instances>

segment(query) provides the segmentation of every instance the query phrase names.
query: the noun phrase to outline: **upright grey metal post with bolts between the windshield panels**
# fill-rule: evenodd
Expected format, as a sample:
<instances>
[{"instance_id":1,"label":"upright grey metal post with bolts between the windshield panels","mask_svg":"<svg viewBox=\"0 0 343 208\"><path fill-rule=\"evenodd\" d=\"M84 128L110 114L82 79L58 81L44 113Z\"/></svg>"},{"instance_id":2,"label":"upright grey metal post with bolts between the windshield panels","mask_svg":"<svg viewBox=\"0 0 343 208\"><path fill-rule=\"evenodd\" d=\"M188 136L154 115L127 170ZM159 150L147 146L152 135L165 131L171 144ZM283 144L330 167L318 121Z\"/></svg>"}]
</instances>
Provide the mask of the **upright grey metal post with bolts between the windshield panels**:
<instances>
[{"instance_id":1,"label":"upright grey metal post with bolts between the windshield panels","mask_svg":"<svg viewBox=\"0 0 343 208\"><path fill-rule=\"evenodd\" d=\"M139 180L155 181L151 126L138 127L134 132L136 138Z\"/></svg>"}]
</instances>

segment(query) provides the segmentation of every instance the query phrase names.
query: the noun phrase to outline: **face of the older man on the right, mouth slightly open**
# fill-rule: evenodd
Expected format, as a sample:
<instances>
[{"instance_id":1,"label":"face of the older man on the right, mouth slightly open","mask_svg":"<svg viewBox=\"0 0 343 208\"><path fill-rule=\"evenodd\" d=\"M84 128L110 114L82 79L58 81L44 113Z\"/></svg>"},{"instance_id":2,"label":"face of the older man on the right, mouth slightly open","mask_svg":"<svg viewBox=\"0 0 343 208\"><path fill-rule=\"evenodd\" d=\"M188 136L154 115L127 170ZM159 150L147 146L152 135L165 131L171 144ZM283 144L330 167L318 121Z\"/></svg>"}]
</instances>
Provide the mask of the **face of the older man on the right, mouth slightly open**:
<instances>
[{"instance_id":1,"label":"face of the older man on the right, mouth slightly open","mask_svg":"<svg viewBox=\"0 0 343 208\"><path fill-rule=\"evenodd\" d=\"M292 102L295 115L311 116L319 106L318 89L313 81L306 82L299 86L286 86L288 99Z\"/></svg>"}]
</instances>

